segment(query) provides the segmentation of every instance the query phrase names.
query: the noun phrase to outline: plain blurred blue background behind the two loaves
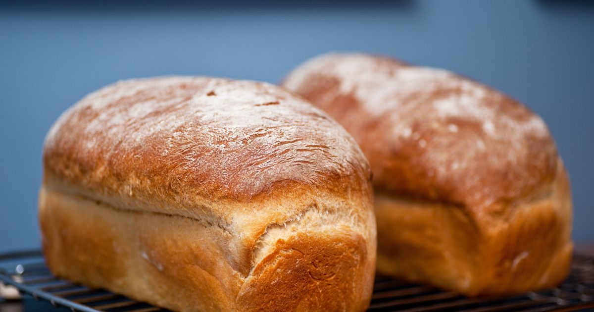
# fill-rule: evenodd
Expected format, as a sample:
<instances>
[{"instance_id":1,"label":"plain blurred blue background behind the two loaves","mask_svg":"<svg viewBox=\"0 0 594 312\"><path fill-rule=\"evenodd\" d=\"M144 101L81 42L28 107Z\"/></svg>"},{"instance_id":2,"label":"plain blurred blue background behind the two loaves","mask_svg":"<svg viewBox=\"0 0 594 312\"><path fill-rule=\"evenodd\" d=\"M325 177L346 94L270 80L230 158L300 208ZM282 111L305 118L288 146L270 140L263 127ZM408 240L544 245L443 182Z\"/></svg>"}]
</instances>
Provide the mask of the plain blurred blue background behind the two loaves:
<instances>
[{"instance_id":1,"label":"plain blurred blue background behind the two loaves","mask_svg":"<svg viewBox=\"0 0 594 312\"><path fill-rule=\"evenodd\" d=\"M43 138L116 80L214 75L277 82L327 51L443 67L526 103L573 184L574 238L594 241L594 2L0 2L0 251L39 246Z\"/></svg>"}]
</instances>

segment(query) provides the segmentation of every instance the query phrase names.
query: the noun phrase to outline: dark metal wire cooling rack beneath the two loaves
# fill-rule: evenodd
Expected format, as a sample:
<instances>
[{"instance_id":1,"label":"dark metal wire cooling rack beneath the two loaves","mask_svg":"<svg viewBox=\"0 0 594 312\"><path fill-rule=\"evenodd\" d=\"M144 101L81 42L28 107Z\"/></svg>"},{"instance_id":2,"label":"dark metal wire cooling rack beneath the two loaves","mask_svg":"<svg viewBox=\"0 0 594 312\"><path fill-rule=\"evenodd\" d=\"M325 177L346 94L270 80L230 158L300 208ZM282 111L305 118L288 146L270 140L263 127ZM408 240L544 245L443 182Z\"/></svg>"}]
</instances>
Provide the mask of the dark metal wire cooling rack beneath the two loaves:
<instances>
[{"instance_id":1,"label":"dark metal wire cooling rack beneath the two loaves","mask_svg":"<svg viewBox=\"0 0 594 312\"><path fill-rule=\"evenodd\" d=\"M56 278L39 250L0 255L0 295L21 294L72 311L167 311L103 289ZM377 276L369 311L576 311L594 309L594 259L574 256L571 273L558 288L511 297L467 298L431 286Z\"/></svg>"}]
</instances>

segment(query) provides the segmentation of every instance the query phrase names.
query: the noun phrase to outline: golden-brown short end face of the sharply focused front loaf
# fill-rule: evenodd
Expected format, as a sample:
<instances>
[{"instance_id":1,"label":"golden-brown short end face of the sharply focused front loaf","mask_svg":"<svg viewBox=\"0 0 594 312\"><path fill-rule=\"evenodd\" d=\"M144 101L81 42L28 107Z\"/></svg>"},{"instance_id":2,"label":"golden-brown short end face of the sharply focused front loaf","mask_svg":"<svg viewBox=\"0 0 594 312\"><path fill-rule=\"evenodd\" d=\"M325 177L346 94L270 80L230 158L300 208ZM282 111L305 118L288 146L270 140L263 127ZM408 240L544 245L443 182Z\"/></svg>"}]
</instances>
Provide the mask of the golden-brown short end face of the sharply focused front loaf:
<instances>
[{"instance_id":1,"label":"golden-brown short end face of the sharply focused front loaf","mask_svg":"<svg viewBox=\"0 0 594 312\"><path fill-rule=\"evenodd\" d=\"M374 275L361 269L366 252L366 240L354 233L279 240L244 283L237 303L247 311L364 311Z\"/></svg>"}]
</instances>

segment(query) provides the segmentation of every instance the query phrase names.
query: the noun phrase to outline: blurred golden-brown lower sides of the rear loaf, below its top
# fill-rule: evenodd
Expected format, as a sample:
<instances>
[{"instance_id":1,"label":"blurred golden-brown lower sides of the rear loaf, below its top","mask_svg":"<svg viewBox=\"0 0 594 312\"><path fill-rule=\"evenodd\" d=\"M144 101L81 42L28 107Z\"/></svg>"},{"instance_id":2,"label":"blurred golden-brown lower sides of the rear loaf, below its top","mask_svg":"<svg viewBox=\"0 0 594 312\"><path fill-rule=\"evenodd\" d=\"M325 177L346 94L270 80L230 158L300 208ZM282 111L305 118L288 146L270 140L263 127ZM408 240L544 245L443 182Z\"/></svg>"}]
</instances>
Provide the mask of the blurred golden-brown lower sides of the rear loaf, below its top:
<instances>
[{"instance_id":1,"label":"blurred golden-brown lower sides of the rear loaf, below its top","mask_svg":"<svg viewBox=\"0 0 594 312\"><path fill-rule=\"evenodd\" d=\"M557 285L573 250L569 184L559 168L543 194L513 203L497 222L451 204L377 196L378 271L466 295Z\"/></svg>"}]
</instances>

